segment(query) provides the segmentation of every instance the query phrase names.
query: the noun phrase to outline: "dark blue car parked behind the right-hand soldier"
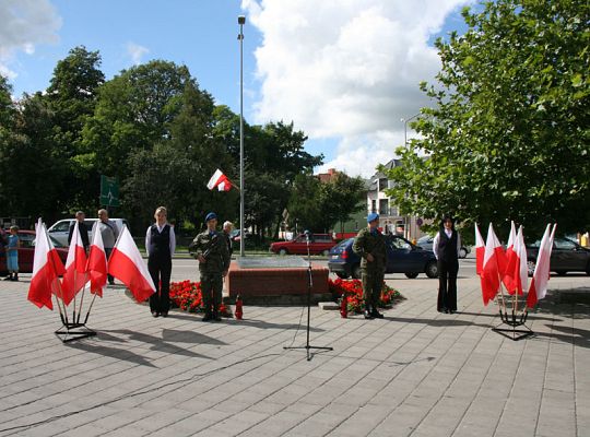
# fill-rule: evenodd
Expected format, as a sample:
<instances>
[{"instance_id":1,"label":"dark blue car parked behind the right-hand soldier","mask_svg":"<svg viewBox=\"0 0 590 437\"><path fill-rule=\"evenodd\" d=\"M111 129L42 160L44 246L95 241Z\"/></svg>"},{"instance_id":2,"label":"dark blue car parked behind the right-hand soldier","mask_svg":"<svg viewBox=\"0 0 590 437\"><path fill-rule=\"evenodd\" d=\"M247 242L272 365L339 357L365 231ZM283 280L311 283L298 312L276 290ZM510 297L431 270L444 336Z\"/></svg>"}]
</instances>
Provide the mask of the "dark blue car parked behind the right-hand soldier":
<instances>
[{"instance_id":1,"label":"dark blue car parked behind the right-hand soldier","mask_svg":"<svg viewBox=\"0 0 590 437\"><path fill-rule=\"evenodd\" d=\"M330 250L328 269L339 277L361 279L361 257L354 252L353 243L354 238L349 238ZM410 279L420 273L438 277L436 258L432 250L424 250L397 235L387 237L386 247L386 273L404 273Z\"/></svg>"}]
</instances>

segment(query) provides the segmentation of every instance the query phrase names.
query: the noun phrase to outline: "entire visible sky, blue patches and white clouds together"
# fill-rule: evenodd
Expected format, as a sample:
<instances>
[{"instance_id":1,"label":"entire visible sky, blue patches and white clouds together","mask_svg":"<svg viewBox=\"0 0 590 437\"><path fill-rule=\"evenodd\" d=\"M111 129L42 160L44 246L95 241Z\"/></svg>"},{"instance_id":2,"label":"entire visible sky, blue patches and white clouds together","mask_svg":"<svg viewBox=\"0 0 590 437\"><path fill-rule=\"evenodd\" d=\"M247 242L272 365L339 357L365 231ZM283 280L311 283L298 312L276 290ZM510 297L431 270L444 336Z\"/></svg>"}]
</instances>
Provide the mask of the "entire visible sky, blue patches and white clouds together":
<instances>
[{"instance_id":1,"label":"entire visible sky, blue patches and white clouds together","mask_svg":"<svg viewBox=\"0 0 590 437\"><path fill-rule=\"evenodd\" d=\"M464 28L470 0L0 0L0 72L15 97L49 85L79 45L101 52L107 79L164 59L186 64L216 103L250 123L295 122L335 167L369 176L428 105L417 83L439 69L434 38ZM409 132L411 138L413 132Z\"/></svg>"}]
</instances>

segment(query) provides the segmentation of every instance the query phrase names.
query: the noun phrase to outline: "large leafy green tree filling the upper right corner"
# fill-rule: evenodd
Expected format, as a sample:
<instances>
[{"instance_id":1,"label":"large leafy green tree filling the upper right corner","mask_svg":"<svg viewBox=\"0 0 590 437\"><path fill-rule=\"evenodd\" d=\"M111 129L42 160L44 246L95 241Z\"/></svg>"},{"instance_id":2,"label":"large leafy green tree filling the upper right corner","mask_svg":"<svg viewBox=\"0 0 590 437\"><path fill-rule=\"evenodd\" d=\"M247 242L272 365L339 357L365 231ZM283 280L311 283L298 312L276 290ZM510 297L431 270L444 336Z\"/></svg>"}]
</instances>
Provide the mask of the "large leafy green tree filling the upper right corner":
<instances>
[{"instance_id":1,"label":"large leafy green tree filling the upper right corner","mask_svg":"<svg viewBox=\"0 0 590 437\"><path fill-rule=\"evenodd\" d=\"M590 3L486 1L468 32L438 39L437 85L421 134L389 177L402 213L465 224L515 220L536 231L590 224ZM427 155L428 158L424 158Z\"/></svg>"}]
</instances>

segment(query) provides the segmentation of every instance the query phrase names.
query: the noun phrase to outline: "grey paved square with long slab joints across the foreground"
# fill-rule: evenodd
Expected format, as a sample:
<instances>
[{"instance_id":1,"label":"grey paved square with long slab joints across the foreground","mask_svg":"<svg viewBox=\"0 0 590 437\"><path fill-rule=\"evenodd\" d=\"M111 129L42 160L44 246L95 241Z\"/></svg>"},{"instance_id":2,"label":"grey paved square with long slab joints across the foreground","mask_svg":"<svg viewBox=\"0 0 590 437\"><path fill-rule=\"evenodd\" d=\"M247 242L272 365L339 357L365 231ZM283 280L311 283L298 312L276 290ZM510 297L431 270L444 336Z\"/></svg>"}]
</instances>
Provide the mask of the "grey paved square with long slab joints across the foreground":
<instances>
[{"instance_id":1,"label":"grey paved square with long slab joints across the foreground","mask_svg":"<svg viewBox=\"0 0 590 437\"><path fill-rule=\"evenodd\" d=\"M310 343L333 351L310 362L283 350L305 345L302 307L154 319L115 286L90 316L97 336L62 344L57 310L26 300L31 275L0 282L0 435L590 436L589 306L550 296L515 342L460 276L456 315L436 312L424 275L388 275L406 299L384 320L312 308Z\"/></svg>"}]
</instances>

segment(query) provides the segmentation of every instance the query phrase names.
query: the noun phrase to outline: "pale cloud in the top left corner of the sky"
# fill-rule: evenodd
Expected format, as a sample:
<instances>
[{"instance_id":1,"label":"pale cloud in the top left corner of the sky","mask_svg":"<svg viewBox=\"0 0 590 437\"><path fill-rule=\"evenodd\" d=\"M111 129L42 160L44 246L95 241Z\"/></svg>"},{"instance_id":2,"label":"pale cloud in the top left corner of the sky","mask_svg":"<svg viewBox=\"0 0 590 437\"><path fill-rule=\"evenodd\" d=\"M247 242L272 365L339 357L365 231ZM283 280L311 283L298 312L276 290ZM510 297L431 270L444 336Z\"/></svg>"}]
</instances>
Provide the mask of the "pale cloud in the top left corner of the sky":
<instances>
[{"instance_id":1,"label":"pale cloud in the top left corner of the sky","mask_svg":"<svg viewBox=\"0 0 590 437\"><path fill-rule=\"evenodd\" d=\"M0 73L11 79L16 52L33 55L36 45L59 40L61 17L48 0L1 0L0 23Z\"/></svg>"}]
</instances>

